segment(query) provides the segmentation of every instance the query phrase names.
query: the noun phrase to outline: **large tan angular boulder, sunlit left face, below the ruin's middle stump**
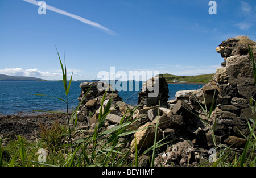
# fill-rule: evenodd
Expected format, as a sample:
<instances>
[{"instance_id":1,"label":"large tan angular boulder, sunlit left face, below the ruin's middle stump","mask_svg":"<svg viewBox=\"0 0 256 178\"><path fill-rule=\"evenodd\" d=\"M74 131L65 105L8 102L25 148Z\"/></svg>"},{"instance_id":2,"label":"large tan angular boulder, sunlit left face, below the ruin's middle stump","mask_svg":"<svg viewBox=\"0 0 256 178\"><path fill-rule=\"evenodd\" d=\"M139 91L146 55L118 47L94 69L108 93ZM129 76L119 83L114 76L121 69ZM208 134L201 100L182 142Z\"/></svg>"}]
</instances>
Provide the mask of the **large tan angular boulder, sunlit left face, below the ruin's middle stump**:
<instances>
[{"instance_id":1,"label":"large tan angular boulder, sunlit left face, below the ruin's middle stump","mask_svg":"<svg viewBox=\"0 0 256 178\"><path fill-rule=\"evenodd\" d=\"M139 127L139 129L142 130L139 130L134 134L134 139L131 141L131 152L135 152L135 144L137 144L138 151L146 150L146 148L149 148L152 146L152 144L154 144L156 128L152 125L152 122L147 122L143 126ZM161 135L162 131L158 129L156 134L156 140L158 140Z\"/></svg>"}]
</instances>

